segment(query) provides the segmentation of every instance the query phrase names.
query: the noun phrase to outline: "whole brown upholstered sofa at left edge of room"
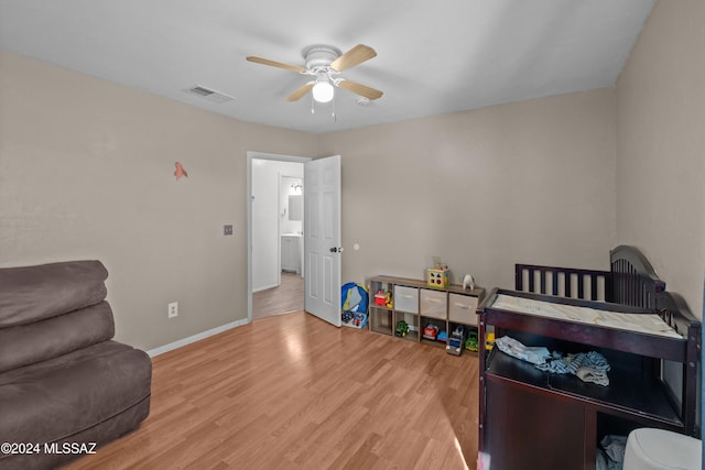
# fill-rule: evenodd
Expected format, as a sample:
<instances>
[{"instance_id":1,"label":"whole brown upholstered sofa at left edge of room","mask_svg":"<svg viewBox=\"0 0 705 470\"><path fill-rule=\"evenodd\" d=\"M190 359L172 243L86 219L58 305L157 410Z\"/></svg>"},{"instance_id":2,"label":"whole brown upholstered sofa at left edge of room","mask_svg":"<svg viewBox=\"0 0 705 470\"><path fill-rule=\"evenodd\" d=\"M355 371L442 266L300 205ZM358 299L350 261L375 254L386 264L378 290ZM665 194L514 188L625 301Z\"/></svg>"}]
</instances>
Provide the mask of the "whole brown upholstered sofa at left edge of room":
<instances>
[{"instance_id":1,"label":"whole brown upholstered sofa at left edge of room","mask_svg":"<svg viewBox=\"0 0 705 470\"><path fill-rule=\"evenodd\" d=\"M149 415L152 362L111 340L107 277L99 261L0 269L0 469L55 468Z\"/></svg>"}]
</instances>

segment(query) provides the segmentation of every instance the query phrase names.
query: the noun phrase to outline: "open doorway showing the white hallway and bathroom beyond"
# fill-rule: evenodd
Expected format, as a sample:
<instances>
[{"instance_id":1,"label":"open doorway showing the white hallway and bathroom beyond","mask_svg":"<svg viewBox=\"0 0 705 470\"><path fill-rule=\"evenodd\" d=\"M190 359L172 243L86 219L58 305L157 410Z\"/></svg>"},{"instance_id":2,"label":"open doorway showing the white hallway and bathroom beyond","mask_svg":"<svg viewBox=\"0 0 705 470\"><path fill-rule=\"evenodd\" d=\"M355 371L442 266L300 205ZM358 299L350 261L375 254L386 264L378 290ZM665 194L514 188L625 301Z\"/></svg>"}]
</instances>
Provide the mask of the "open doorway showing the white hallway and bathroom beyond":
<instances>
[{"instance_id":1,"label":"open doorway showing the white hallway and bathroom beyond","mask_svg":"<svg viewBox=\"0 0 705 470\"><path fill-rule=\"evenodd\" d=\"M248 152L248 319L304 309L304 163Z\"/></svg>"}]
</instances>

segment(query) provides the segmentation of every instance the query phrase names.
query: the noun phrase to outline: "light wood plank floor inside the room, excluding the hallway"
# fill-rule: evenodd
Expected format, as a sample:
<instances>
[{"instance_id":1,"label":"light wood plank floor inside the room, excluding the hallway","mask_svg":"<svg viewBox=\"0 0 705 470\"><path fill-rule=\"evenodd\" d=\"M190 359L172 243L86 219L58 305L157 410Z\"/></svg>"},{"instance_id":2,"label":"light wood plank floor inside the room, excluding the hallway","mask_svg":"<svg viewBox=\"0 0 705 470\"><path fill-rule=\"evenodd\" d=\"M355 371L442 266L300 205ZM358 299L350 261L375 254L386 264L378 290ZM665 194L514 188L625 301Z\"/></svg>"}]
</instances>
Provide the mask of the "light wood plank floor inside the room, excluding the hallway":
<instances>
[{"instance_id":1,"label":"light wood plank floor inside the room, excluding the hallway","mask_svg":"<svg viewBox=\"0 0 705 470\"><path fill-rule=\"evenodd\" d=\"M153 359L141 427L69 469L475 469L476 354L297 311Z\"/></svg>"}]
</instances>

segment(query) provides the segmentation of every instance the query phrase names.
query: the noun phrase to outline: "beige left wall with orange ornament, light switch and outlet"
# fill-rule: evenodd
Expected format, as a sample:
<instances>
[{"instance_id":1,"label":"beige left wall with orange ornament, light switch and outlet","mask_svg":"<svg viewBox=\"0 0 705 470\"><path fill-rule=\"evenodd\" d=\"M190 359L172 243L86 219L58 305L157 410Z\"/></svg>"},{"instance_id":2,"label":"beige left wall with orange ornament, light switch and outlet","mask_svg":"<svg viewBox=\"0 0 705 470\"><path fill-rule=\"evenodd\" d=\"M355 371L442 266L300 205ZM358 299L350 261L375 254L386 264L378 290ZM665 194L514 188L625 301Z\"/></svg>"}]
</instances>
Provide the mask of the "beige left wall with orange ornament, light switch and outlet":
<instances>
[{"instance_id":1,"label":"beige left wall with orange ornament, light switch and outlet","mask_svg":"<svg viewBox=\"0 0 705 470\"><path fill-rule=\"evenodd\" d=\"M314 155L316 136L3 53L0 266L100 259L117 339L147 349L247 318L248 150Z\"/></svg>"}]
</instances>

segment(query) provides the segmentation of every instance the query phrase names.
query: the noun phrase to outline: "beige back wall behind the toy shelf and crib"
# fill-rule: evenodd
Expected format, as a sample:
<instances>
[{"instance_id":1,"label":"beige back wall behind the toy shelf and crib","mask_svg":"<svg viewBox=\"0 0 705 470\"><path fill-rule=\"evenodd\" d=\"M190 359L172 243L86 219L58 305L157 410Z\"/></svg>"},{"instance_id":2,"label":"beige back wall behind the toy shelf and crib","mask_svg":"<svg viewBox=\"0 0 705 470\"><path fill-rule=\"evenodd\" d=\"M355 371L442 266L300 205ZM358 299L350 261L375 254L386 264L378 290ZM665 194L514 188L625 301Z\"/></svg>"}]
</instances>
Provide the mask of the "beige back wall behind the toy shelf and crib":
<instances>
[{"instance_id":1,"label":"beige back wall behind the toy shelf and crib","mask_svg":"<svg viewBox=\"0 0 705 470\"><path fill-rule=\"evenodd\" d=\"M609 269L614 89L321 135L337 153L344 282L434 255L486 287L513 287L517 262Z\"/></svg>"}]
</instances>

